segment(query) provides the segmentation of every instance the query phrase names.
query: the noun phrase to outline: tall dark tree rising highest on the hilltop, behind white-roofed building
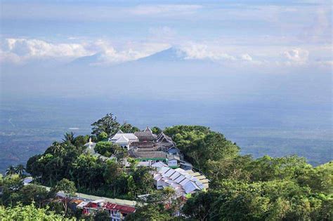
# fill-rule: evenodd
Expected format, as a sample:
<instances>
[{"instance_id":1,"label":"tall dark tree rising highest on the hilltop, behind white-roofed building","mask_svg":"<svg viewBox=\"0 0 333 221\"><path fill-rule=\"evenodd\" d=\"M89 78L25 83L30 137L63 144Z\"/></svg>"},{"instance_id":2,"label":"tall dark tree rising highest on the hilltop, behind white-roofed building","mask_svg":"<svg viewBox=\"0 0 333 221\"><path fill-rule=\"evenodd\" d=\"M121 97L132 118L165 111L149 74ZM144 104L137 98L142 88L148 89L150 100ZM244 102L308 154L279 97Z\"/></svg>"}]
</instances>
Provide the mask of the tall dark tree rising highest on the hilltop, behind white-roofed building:
<instances>
[{"instance_id":1,"label":"tall dark tree rising highest on the hilltop, behind white-roofed building","mask_svg":"<svg viewBox=\"0 0 333 221\"><path fill-rule=\"evenodd\" d=\"M98 136L100 133L105 132L108 137L111 137L119 130L120 123L117 122L117 117L114 117L113 114L106 114L103 118L91 124L91 126L93 126L93 135Z\"/></svg>"}]
</instances>

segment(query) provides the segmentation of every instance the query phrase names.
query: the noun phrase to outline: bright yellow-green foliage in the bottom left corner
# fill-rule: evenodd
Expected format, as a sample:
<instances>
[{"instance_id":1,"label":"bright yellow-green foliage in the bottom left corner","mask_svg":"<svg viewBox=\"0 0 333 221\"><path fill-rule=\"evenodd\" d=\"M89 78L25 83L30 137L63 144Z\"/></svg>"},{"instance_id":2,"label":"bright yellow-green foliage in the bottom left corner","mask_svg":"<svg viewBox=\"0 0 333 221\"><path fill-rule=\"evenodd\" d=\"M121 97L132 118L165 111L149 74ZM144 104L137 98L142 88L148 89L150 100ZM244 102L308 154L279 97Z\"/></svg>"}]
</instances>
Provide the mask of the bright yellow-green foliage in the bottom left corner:
<instances>
[{"instance_id":1,"label":"bright yellow-green foliage in the bottom left corner","mask_svg":"<svg viewBox=\"0 0 333 221\"><path fill-rule=\"evenodd\" d=\"M60 215L55 215L43 208L36 208L34 204L22 206L18 204L13 208L4 208L0 206L1 220L69 220ZM74 220L74 219L72 219Z\"/></svg>"}]
</instances>

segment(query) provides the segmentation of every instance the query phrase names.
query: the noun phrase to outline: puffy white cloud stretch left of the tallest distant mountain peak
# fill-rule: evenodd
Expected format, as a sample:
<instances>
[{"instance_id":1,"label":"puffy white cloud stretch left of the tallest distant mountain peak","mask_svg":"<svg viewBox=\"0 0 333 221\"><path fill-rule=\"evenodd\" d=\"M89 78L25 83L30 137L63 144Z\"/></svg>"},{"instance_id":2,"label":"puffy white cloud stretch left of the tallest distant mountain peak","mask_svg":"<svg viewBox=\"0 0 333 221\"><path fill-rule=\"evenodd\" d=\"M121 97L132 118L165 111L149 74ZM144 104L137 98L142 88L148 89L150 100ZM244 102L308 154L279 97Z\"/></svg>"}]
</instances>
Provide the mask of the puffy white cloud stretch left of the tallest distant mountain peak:
<instances>
[{"instance_id":1,"label":"puffy white cloud stretch left of the tallest distant mountain peak","mask_svg":"<svg viewBox=\"0 0 333 221\"><path fill-rule=\"evenodd\" d=\"M34 59L72 60L100 53L98 64L124 62L142 58L141 53L131 48L117 51L108 41L83 43L49 43L38 39L5 39L1 42L1 62L22 63Z\"/></svg>"}]
</instances>

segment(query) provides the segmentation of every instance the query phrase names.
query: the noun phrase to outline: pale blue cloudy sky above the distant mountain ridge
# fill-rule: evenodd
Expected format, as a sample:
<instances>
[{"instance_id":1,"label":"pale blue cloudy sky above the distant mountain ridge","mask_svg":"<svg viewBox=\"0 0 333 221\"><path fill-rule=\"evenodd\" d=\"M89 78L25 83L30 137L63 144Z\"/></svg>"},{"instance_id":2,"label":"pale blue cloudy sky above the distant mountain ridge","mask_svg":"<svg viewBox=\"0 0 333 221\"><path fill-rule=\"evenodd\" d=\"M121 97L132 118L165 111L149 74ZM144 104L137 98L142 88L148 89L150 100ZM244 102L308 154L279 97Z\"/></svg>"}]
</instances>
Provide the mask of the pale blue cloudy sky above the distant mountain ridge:
<instances>
[{"instance_id":1,"label":"pale blue cloudy sky above the distant mountain ridge","mask_svg":"<svg viewBox=\"0 0 333 221\"><path fill-rule=\"evenodd\" d=\"M332 70L331 1L5 1L0 65L100 65L175 47L188 59L266 69Z\"/></svg>"}]
</instances>

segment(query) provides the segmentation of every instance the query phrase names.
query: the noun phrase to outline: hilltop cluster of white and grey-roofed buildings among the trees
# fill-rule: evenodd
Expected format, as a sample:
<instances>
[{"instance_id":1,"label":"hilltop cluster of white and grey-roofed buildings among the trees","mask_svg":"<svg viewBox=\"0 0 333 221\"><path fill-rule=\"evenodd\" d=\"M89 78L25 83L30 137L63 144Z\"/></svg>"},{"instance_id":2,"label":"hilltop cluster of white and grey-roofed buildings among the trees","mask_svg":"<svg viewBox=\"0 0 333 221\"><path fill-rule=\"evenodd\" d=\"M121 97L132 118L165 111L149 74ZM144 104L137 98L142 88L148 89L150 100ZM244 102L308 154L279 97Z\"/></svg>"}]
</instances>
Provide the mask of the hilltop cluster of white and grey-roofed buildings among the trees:
<instances>
[{"instance_id":1,"label":"hilltop cluster of white and grey-roofed buildings among the trees","mask_svg":"<svg viewBox=\"0 0 333 221\"><path fill-rule=\"evenodd\" d=\"M177 196L186 196L209 187L209 180L192 170L192 164L183 160L183 154L175 142L163 132L156 135L149 127L135 133L123 133L119 130L108 140L126 148L129 157L139 160L138 166L156 168L152 175L157 189L171 187L175 189ZM93 150L96 143L90 140L86 146L91 154L100 156ZM107 159L105 156L100 157Z\"/></svg>"}]
</instances>

